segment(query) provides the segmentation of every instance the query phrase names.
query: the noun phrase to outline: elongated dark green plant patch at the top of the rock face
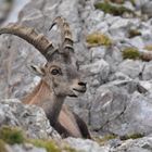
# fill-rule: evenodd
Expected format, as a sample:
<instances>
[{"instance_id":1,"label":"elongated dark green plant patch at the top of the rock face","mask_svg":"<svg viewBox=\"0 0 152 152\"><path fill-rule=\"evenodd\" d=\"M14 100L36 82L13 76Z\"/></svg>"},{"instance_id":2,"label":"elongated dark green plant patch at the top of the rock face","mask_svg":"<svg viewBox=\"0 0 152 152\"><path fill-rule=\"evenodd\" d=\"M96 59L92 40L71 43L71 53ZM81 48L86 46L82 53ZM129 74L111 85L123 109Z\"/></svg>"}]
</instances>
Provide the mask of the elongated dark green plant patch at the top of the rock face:
<instances>
[{"instance_id":1,"label":"elongated dark green plant patch at the top of the rock face","mask_svg":"<svg viewBox=\"0 0 152 152\"><path fill-rule=\"evenodd\" d=\"M114 5L109 2L98 2L94 4L96 9L102 10L104 13L110 13L113 15L123 15L124 13L131 13L134 12L123 5Z\"/></svg>"}]
</instances>

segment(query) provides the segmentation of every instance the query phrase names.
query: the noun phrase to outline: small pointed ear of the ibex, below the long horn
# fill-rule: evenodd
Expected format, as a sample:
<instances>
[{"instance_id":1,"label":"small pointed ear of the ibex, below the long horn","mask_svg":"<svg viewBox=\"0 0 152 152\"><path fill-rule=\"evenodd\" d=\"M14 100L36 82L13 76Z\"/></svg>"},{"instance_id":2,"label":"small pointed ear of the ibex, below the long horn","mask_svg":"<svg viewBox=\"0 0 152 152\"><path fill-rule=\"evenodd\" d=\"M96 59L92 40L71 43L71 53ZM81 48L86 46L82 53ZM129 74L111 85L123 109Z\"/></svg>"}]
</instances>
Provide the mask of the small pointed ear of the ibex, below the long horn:
<instances>
[{"instance_id":1,"label":"small pointed ear of the ibex, below the long horn","mask_svg":"<svg viewBox=\"0 0 152 152\"><path fill-rule=\"evenodd\" d=\"M45 76L45 69L43 67L37 66L37 65L30 65L30 71L35 73L38 76Z\"/></svg>"}]
</instances>

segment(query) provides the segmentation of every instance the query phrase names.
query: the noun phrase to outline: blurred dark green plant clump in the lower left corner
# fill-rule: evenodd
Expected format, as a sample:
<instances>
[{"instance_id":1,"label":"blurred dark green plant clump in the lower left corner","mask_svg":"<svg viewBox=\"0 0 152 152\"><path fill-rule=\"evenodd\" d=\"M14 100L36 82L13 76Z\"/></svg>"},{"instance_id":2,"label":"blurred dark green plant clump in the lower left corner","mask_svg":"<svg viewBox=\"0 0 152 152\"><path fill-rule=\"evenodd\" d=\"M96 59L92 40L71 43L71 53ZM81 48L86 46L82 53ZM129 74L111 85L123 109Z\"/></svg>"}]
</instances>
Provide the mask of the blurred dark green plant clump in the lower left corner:
<instances>
[{"instance_id":1,"label":"blurred dark green plant clump in the lower left corner","mask_svg":"<svg viewBox=\"0 0 152 152\"><path fill-rule=\"evenodd\" d=\"M9 144L23 143L24 136L18 128L3 126L0 128L0 139Z\"/></svg>"}]
</instances>

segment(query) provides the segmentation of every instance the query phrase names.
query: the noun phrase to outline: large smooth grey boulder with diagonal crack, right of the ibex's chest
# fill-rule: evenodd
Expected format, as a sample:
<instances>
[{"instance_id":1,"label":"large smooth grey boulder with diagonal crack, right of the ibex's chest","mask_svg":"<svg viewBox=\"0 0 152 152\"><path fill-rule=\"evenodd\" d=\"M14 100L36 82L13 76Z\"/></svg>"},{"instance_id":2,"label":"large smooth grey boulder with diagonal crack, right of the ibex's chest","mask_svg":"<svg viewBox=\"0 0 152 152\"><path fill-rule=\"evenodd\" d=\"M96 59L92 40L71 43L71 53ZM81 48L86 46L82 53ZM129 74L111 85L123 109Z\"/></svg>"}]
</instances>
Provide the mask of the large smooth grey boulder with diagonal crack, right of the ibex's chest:
<instances>
[{"instance_id":1,"label":"large smooth grey boulder with diagonal crack, right of the ibex's chest","mask_svg":"<svg viewBox=\"0 0 152 152\"><path fill-rule=\"evenodd\" d=\"M90 111L93 130L118 136L149 135L152 131L151 117L148 116L152 113L151 97L143 97L137 92L137 84L132 87L131 94L128 94L123 83L116 86L110 83L109 87L104 85L98 89L97 99L93 100ZM129 89L128 86L128 91Z\"/></svg>"}]
</instances>

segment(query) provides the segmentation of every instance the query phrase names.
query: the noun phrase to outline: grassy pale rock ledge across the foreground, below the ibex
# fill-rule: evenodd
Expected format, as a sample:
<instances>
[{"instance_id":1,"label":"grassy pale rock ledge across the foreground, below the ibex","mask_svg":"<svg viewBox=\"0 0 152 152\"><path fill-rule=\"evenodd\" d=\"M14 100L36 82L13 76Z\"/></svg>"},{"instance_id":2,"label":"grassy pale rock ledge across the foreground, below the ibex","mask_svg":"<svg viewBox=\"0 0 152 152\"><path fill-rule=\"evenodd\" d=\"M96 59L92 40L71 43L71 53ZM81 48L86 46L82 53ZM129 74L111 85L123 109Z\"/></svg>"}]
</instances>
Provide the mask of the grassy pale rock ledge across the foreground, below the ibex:
<instances>
[{"instance_id":1,"label":"grassy pale rock ledge across the foreground, below the ibex","mask_svg":"<svg viewBox=\"0 0 152 152\"><path fill-rule=\"evenodd\" d=\"M152 137L103 136L89 139L66 138L49 125L40 107L16 99L0 101L0 152L150 152Z\"/></svg>"}]
</instances>

